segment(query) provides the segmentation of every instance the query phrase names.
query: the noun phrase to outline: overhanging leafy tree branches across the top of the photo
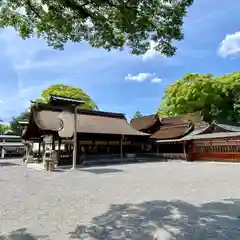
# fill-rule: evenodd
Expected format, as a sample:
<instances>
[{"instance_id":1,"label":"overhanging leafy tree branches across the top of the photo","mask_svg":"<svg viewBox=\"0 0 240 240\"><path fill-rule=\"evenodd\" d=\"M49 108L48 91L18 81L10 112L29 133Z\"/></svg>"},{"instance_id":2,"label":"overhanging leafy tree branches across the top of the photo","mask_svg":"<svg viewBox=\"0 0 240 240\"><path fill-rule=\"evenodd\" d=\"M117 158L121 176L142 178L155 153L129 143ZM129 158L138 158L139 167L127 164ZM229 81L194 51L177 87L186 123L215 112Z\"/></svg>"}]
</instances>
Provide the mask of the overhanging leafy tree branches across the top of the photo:
<instances>
[{"instance_id":1,"label":"overhanging leafy tree branches across the top of the photo","mask_svg":"<svg viewBox=\"0 0 240 240\"><path fill-rule=\"evenodd\" d=\"M5 0L0 27L14 27L23 38L43 38L50 46L87 41L107 50L127 46L133 54L156 50L172 56L182 40L183 18L194 0Z\"/></svg>"}]
</instances>

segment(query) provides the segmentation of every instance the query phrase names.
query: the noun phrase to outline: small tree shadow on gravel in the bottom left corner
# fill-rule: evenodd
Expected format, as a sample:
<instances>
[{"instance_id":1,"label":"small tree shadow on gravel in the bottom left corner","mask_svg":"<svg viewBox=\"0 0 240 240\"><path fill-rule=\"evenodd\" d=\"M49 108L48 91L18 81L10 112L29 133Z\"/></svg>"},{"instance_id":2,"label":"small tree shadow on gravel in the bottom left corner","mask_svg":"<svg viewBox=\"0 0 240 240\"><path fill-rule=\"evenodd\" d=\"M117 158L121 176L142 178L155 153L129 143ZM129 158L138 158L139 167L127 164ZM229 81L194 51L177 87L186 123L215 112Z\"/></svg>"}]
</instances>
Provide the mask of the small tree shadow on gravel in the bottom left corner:
<instances>
[{"instance_id":1,"label":"small tree shadow on gravel in the bottom left corner","mask_svg":"<svg viewBox=\"0 0 240 240\"><path fill-rule=\"evenodd\" d=\"M49 239L46 235L35 236L27 231L26 228L21 228L7 234L1 234L0 240L46 240Z\"/></svg>"}]
</instances>

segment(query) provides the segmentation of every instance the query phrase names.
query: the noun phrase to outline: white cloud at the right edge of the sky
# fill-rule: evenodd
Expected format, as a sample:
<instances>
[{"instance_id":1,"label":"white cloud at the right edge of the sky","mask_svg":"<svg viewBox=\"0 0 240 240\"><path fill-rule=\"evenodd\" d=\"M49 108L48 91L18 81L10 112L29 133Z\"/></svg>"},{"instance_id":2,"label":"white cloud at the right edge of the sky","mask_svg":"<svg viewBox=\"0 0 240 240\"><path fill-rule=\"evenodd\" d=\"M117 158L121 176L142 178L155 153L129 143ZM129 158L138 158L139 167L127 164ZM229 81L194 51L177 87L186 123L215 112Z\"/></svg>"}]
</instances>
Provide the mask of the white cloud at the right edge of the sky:
<instances>
[{"instance_id":1,"label":"white cloud at the right edge of the sky","mask_svg":"<svg viewBox=\"0 0 240 240\"><path fill-rule=\"evenodd\" d=\"M218 54L226 58L231 55L240 53L240 32L227 34L220 43Z\"/></svg>"}]
</instances>

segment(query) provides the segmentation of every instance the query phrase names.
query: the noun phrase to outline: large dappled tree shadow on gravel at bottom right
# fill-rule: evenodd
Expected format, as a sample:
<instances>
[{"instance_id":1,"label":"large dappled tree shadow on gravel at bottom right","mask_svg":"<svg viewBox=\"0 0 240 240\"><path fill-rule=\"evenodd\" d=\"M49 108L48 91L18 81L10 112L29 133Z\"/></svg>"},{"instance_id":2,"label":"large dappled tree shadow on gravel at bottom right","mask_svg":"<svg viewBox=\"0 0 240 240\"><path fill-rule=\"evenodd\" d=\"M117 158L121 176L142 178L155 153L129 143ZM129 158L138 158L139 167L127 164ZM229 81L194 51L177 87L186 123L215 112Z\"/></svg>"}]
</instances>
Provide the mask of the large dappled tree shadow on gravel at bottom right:
<instances>
[{"instance_id":1,"label":"large dappled tree shadow on gravel at bottom right","mask_svg":"<svg viewBox=\"0 0 240 240\"><path fill-rule=\"evenodd\" d=\"M184 201L151 201L111 205L69 233L72 239L237 240L240 239L240 199L199 206Z\"/></svg>"}]
</instances>

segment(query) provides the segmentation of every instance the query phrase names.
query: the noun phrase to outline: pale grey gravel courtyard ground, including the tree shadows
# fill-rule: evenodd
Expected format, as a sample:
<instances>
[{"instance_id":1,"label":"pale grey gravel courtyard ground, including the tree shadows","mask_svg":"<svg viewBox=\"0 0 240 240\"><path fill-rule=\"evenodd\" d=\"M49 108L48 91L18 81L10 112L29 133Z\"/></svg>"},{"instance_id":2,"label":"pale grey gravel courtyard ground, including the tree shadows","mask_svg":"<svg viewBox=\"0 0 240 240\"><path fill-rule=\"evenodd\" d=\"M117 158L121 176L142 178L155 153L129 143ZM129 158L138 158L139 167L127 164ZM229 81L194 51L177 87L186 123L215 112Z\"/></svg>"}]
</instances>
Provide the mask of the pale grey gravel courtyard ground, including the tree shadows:
<instances>
[{"instance_id":1,"label":"pale grey gravel courtyard ground, including the tree shadows","mask_svg":"<svg viewBox=\"0 0 240 240\"><path fill-rule=\"evenodd\" d=\"M0 160L0 240L240 239L240 164L20 162Z\"/></svg>"}]
</instances>

